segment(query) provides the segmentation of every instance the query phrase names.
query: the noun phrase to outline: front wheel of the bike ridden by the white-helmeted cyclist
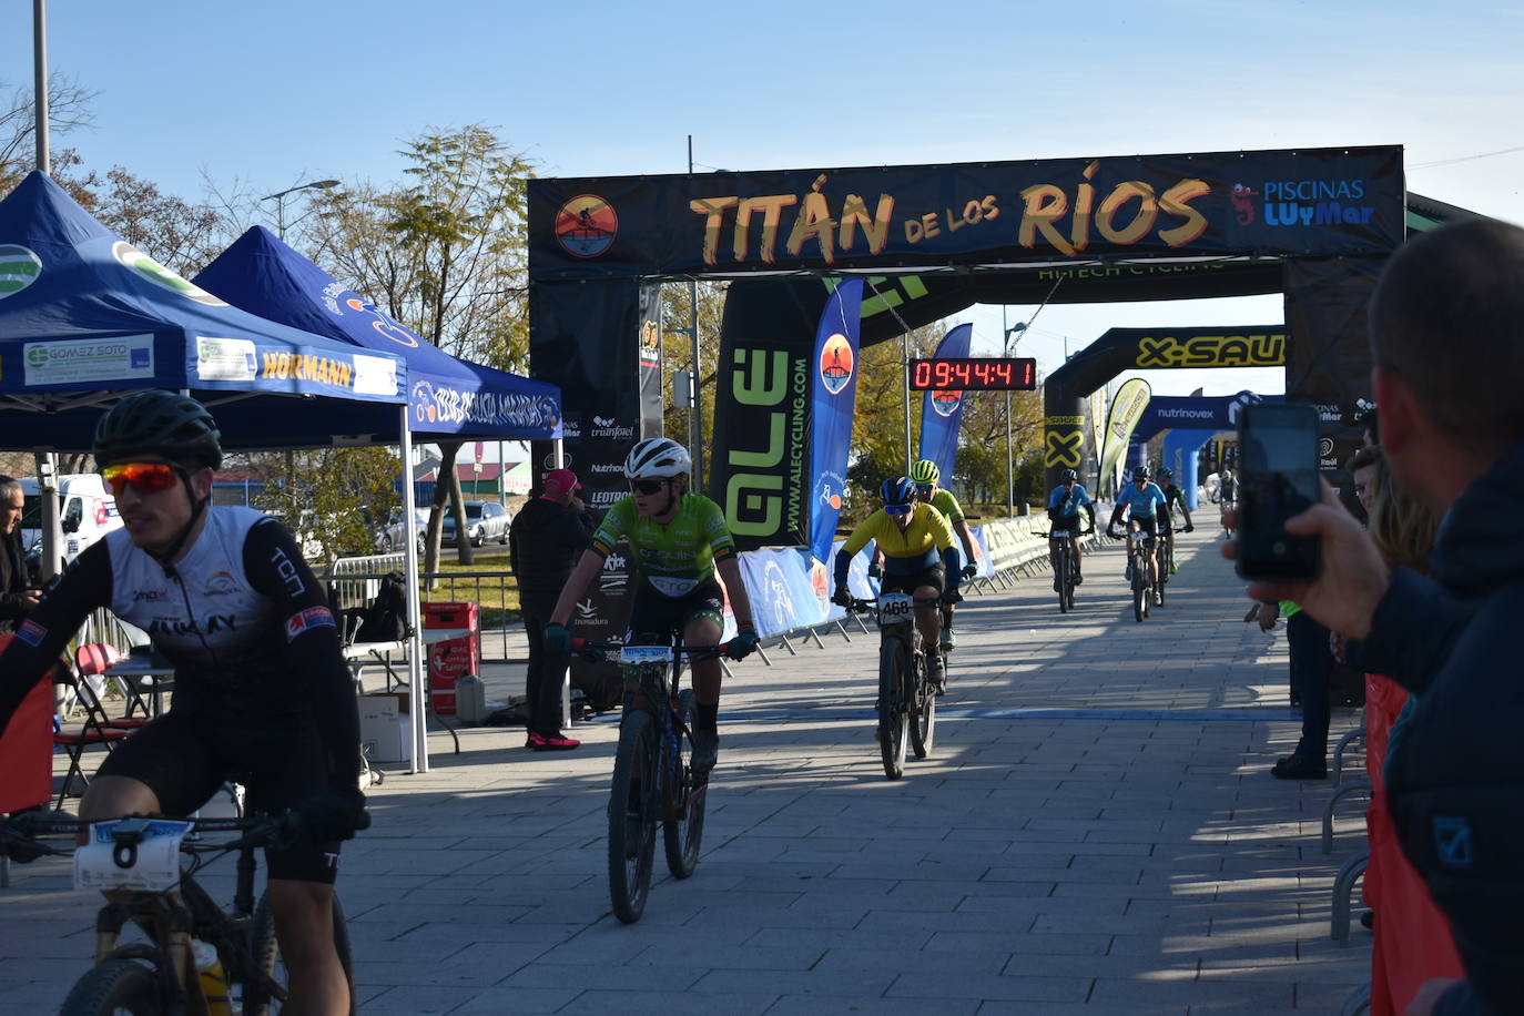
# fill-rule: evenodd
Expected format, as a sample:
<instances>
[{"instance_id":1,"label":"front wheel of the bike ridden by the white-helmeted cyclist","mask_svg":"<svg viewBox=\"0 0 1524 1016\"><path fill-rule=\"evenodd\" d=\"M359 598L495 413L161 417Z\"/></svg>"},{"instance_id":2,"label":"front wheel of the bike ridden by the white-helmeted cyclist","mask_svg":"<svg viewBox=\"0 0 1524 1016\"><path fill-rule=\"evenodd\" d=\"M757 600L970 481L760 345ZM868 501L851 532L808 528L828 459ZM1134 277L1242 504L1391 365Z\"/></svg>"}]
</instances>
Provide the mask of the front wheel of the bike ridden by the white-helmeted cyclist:
<instances>
[{"instance_id":1,"label":"front wheel of the bike ridden by the white-helmeted cyclist","mask_svg":"<svg viewBox=\"0 0 1524 1016\"><path fill-rule=\"evenodd\" d=\"M640 920L657 848L657 728L631 708L619 725L614 786L608 795L608 899L626 925Z\"/></svg>"}]
</instances>

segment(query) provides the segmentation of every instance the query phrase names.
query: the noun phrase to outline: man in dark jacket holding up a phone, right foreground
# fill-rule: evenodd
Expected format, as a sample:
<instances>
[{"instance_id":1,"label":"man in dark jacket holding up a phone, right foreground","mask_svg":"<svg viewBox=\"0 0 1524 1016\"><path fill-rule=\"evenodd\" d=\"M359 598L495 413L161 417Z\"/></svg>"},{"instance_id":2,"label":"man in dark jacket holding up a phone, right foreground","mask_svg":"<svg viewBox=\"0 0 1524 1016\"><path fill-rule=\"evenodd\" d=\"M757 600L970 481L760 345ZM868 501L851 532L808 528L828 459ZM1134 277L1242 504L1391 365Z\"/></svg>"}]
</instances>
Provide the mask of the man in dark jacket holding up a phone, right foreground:
<instances>
[{"instance_id":1,"label":"man in dark jacket holding up a phone, right foreground","mask_svg":"<svg viewBox=\"0 0 1524 1016\"><path fill-rule=\"evenodd\" d=\"M1323 573L1248 593L1295 599L1355 640L1352 663L1416 698L1391 733L1387 801L1468 979L1430 981L1408 1013L1524 1013L1524 230L1471 219L1408 241L1376 288L1370 341L1394 481L1445 513L1434 580L1388 573L1324 487L1286 522L1321 539Z\"/></svg>"}]
</instances>

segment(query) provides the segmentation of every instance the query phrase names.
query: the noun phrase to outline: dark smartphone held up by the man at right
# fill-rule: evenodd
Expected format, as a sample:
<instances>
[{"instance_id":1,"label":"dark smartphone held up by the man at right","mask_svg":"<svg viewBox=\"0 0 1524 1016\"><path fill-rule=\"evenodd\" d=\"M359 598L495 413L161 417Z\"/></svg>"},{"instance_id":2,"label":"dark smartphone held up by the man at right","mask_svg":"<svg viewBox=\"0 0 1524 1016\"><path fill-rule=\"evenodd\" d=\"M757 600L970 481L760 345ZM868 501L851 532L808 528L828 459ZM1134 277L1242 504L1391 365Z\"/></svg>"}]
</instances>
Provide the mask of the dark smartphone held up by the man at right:
<instances>
[{"instance_id":1,"label":"dark smartphone held up by the man at right","mask_svg":"<svg viewBox=\"0 0 1524 1016\"><path fill-rule=\"evenodd\" d=\"M1239 413L1237 573L1245 579L1312 579L1318 541L1291 536L1286 519L1318 501L1318 411L1257 402Z\"/></svg>"}]
</instances>

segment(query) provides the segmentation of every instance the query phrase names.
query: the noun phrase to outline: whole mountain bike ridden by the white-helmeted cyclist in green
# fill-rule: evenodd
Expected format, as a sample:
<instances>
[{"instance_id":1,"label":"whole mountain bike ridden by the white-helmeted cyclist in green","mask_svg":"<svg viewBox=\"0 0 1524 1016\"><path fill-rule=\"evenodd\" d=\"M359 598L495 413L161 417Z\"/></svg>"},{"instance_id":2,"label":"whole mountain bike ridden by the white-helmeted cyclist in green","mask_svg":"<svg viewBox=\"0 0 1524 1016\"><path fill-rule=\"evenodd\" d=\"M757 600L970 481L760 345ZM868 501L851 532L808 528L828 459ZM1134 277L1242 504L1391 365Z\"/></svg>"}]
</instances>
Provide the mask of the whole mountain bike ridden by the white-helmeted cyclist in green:
<instances>
[{"instance_id":1,"label":"whole mountain bike ridden by the white-helmeted cyclist in green","mask_svg":"<svg viewBox=\"0 0 1524 1016\"><path fill-rule=\"evenodd\" d=\"M640 920L651 894L657 820L661 821L668 871L686 879L698 867L704 838L709 771L695 769L693 692L678 690L683 657L709 660L725 646L625 646L572 640L590 660L617 653L625 678L625 708L608 797L608 899L626 925ZM669 676L671 675L671 676Z\"/></svg>"}]
</instances>

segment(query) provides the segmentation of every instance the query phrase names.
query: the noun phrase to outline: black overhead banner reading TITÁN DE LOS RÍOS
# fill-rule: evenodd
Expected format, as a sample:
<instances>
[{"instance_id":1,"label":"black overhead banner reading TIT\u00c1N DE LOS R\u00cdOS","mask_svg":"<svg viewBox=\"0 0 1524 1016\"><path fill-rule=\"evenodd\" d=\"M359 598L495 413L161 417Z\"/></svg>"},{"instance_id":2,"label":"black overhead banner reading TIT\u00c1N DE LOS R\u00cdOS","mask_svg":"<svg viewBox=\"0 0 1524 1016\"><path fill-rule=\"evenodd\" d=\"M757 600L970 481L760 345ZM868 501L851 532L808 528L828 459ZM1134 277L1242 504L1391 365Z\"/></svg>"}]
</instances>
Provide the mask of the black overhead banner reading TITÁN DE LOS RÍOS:
<instances>
[{"instance_id":1,"label":"black overhead banner reading TIT\u00c1N DE LOS R\u00cdOS","mask_svg":"<svg viewBox=\"0 0 1524 1016\"><path fill-rule=\"evenodd\" d=\"M536 282L1097 256L1382 256L1399 146L529 181Z\"/></svg>"}]
</instances>

